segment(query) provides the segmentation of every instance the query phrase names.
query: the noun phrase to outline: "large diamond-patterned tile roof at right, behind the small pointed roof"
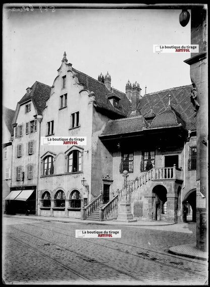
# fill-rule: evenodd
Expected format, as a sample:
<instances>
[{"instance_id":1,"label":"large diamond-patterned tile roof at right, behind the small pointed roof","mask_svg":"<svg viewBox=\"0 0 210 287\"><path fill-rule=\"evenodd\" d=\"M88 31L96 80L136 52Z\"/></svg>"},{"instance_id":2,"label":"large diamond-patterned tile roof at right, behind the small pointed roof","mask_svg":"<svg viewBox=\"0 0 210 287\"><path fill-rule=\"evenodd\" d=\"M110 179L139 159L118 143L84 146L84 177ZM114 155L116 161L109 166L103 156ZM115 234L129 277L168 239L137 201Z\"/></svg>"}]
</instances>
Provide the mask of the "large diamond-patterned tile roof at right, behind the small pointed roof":
<instances>
[{"instance_id":1,"label":"large diamond-patterned tile roof at right, behind the small pointed roof","mask_svg":"<svg viewBox=\"0 0 210 287\"><path fill-rule=\"evenodd\" d=\"M174 112L179 114L178 118L180 117L181 120L185 122L186 129L191 131L196 130L195 111L190 101L191 88L192 85L187 85L146 94L142 97L142 99L140 99L137 113L142 114L145 117L146 114L149 113L150 107L152 106L153 113L156 115L160 114L167 108L170 94L171 106ZM164 120L162 122L164 126L168 126L167 121L170 119L167 116L167 113L165 113L165 116L166 120L165 122ZM179 123L182 124L181 120Z\"/></svg>"}]
</instances>

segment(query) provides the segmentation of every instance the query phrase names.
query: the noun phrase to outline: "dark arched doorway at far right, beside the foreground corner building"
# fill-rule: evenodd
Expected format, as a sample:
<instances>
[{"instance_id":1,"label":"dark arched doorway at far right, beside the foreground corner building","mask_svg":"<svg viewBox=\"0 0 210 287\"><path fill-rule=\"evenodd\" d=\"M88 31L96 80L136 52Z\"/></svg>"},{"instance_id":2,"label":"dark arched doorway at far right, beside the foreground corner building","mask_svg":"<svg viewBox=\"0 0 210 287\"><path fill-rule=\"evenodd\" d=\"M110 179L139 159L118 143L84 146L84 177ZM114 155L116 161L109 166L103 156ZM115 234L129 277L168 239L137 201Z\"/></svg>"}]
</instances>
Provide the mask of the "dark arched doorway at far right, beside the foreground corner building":
<instances>
[{"instance_id":1,"label":"dark arched doorway at far right, beside the foreground corner building","mask_svg":"<svg viewBox=\"0 0 210 287\"><path fill-rule=\"evenodd\" d=\"M189 191L184 198L183 221L196 222L196 189Z\"/></svg>"}]
</instances>

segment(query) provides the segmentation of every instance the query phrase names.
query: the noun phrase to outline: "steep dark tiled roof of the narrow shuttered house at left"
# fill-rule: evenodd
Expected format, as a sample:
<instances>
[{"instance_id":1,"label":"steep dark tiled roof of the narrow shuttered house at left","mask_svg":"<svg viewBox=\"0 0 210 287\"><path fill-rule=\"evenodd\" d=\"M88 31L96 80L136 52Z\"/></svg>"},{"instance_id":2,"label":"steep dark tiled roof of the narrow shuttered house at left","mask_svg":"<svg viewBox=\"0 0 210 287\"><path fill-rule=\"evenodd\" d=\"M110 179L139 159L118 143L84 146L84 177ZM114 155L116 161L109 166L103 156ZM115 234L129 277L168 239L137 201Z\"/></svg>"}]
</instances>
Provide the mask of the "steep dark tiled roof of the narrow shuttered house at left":
<instances>
[{"instance_id":1,"label":"steep dark tiled roof of the narrow shuttered house at left","mask_svg":"<svg viewBox=\"0 0 210 287\"><path fill-rule=\"evenodd\" d=\"M36 81L31 87L31 92L26 93L18 103L22 104L25 101L32 99L37 110L37 114L42 114L46 105L46 100L50 96L50 91L50 86Z\"/></svg>"}]
</instances>

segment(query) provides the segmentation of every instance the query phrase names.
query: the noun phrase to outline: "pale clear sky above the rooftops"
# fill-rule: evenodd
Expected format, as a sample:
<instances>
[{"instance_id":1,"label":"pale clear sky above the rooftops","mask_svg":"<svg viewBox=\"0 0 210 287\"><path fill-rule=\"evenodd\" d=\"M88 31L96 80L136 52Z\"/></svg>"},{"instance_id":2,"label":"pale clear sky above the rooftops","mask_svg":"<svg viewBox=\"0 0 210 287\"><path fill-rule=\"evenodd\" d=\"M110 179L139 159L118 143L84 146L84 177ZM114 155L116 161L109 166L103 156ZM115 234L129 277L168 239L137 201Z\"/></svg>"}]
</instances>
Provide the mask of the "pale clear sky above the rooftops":
<instances>
[{"instance_id":1,"label":"pale clear sky above the rooftops","mask_svg":"<svg viewBox=\"0 0 210 287\"><path fill-rule=\"evenodd\" d=\"M190 67L183 62L189 55L153 53L153 44L190 44L190 22L180 25L181 10L53 5L47 11L33 5L25 12L3 9L5 106L15 109L35 81L53 85L64 51L68 63L94 79L109 72L111 86L122 92L128 80L140 84L142 95L145 86L151 93L191 84Z\"/></svg>"}]
</instances>

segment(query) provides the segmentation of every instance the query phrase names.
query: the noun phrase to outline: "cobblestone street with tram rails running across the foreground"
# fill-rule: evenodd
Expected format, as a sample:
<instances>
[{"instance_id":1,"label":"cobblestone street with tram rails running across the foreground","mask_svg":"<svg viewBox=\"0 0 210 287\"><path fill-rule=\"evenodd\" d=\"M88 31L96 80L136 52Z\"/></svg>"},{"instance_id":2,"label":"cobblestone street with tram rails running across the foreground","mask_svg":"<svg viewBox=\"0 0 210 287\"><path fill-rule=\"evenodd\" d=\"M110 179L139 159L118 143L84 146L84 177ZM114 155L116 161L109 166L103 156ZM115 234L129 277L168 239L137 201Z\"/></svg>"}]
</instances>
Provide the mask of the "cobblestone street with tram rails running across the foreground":
<instances>
[{"instance_id":1,"label":"cobblestone street with tram rails running across the foreground","mask_svg":"<svg viewBox=\"0 0 210 287\"><path fill-rule=\"evenodd\" d=\"M187 224L186 232L177 232L176 225L159 230L5 217L3 279L6 284L203 285L206 261L168 253L171 246L195 242L195 224ZM75 229L121 229L122 238L80 239Z\"/></svg>"}]
</instances>

